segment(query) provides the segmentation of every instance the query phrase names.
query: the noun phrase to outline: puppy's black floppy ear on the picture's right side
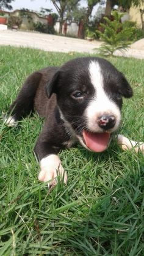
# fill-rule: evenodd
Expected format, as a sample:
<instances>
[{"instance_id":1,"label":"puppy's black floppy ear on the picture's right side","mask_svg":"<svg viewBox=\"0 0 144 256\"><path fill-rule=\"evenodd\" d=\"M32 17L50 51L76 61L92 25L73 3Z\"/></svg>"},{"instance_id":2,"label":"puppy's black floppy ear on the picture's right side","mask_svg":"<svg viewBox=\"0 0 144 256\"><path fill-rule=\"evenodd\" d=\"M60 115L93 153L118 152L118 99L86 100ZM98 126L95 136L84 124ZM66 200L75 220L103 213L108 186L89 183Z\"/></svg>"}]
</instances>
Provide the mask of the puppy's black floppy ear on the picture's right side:
<instances>
[{"instance_id":1,"label":"puppy's black floppy ear on the picture's right side","mask_svg":"<svg viewBox=\"0 0 144 256\"><path fill-rule=\"evenodd\" d=\"M133 95L132 87L129 85L129 82L124 77L123 73L120 72L119 78L119 86L120 86L120 93L125 98L131 98Z\"/></svg>"}]
</instances>

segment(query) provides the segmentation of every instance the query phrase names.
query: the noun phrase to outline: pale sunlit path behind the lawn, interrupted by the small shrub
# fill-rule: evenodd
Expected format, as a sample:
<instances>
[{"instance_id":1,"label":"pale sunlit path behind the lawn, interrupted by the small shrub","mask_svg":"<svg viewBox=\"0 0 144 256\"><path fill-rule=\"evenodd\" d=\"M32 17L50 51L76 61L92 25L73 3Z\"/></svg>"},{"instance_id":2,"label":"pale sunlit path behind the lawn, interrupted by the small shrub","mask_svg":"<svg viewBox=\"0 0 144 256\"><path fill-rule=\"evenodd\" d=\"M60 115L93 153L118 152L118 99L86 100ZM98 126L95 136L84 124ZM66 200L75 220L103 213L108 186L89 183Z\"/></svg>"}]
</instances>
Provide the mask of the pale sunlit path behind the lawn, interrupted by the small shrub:
<instances>
[{"instance_id":1,"label":"pale sunlit path behind the lawn, interrupted by the small shrub","mask_svg":"<svg viewBox=\"0 0 144 256\"><path fill-rule=\"evenodd\" d=\"M59 35L40 34L37 32L22 31L0 31L0 45L24 46L30 48L43 49L44 51L58 51L69 53L96 53L95 48L99 48L101 42L60 37ZM131 45L127 51L116 51L115 56L135 57L144 59L144 39Z\"/></svg>"}]
</instances>

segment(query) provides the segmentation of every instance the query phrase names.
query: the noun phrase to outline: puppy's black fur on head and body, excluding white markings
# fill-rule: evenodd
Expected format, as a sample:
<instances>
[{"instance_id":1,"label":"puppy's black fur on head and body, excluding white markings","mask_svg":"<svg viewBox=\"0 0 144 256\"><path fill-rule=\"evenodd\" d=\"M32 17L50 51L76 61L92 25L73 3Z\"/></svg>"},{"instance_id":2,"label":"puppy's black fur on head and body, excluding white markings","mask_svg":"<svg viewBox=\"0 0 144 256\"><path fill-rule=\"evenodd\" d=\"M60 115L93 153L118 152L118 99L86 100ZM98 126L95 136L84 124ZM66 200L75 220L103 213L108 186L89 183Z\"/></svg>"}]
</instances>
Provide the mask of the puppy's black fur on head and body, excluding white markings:
<instances>
[{"instance_id":1,"label":"puppy's black fur on head and body, excluding white markings","mask_svg":"<svg viewBox=\"0 0 144 256\"><path fill-rule=\"evenodd\" d=\"M91 60L98 61L101 66L104 90L118 108L121 109L122 106L121 96L132 96L132 89L123 74L107 60L97 57L78 58L70 60L60 68L48 67L34 72L24 82L18 97L10 106L9 113L12 113L16 121L34 110L41 117L45 117L45 125L35 145L38 159L58 153L68 142L72 144L75 141L65 120L81 136L85 126L83 113L94 93L88 71ZM74 98L76 92L82 92L84 97Z\"/></svg>"}]
</instances>

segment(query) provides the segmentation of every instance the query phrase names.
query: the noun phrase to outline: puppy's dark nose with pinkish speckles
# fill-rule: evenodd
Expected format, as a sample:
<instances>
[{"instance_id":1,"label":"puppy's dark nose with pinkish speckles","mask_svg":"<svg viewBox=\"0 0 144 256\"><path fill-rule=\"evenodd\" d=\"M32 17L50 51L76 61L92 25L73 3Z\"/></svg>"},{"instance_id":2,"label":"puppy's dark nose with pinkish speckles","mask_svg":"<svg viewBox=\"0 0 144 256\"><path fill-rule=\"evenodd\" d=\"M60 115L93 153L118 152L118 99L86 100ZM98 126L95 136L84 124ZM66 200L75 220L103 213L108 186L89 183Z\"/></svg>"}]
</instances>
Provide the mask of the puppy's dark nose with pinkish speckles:
<instances>
[{"instance_id":1,"label":"puppy's dark nose with pinkish speckles","mask_svg":"<svg viewBox=\"0 0 144 256\"><path fill-rule=\"evenodd\" d=\"M98 125L104 130L109 130L115 126L114 115L101 115L98 117Z\"/></svg>"}]
</instances>

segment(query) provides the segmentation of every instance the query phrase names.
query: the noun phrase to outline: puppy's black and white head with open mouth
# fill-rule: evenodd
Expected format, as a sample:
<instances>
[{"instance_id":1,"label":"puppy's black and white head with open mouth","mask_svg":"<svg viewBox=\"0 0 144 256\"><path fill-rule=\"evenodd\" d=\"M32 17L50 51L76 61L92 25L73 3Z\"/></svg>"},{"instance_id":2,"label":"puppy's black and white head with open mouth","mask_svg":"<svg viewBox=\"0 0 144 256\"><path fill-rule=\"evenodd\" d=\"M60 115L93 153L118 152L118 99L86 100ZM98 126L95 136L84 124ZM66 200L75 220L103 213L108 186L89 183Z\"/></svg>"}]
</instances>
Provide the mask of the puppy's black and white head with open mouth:
<instances>
[{"instance_id":1,"label":"puppy's black and white head with open mouth","mask_svg":"<svg viewBox=\"0 0 144 256\"><path fill-rule=\"evenodd\" d=\"M102 152L110 134L121 120L122 97L132 97L132 89L112 64L97 57L70 60L46 87L48 97L57 94L62 119L76 133L81 144Z\"/></svg>"}]
</instances>

